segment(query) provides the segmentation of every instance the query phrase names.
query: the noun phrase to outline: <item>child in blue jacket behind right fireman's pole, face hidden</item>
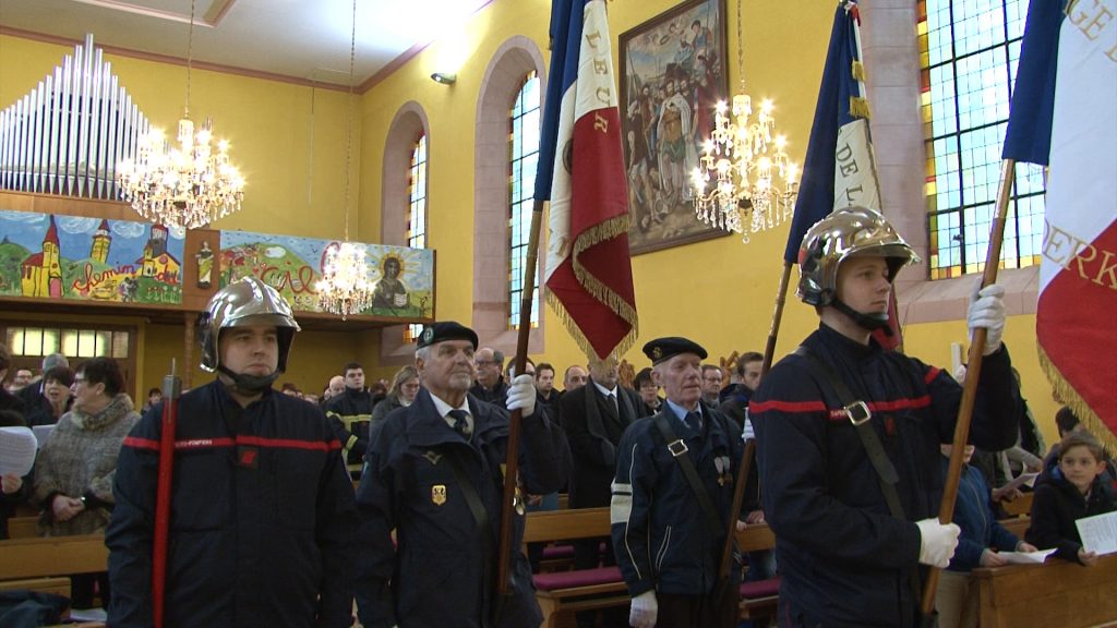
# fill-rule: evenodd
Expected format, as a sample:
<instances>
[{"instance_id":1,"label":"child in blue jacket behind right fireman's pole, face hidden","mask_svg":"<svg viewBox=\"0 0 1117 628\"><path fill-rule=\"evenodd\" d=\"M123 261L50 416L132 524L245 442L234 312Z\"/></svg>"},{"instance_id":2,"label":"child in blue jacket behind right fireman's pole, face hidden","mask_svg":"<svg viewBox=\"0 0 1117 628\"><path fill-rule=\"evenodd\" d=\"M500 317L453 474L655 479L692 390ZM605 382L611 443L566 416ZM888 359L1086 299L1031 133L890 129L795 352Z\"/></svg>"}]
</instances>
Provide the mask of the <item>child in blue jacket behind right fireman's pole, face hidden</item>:
<instances>
[{"instance_id":1,"label":"child in blue jacket behind right fireman's pole, face hidden","mask_svg":"<svg viewBox=\"0 0 1117 628\"><path fill-rule=\"evenodd\" d=\"M953 445L939 445L943 451L943 477L951 464ZM958 498L954 505L954 523L962 529L958 546L954 551L949 567L938 577L935 594L935 610L938 612L938 628L976 628L977 626L977 581L971 575L977 567L1000 567L1006 560L996 553L1001 551L1034 552L1035 546L1021 541L997 523L990 501L989 485L982 473L970 466L974 446L967 445Z\"/></svg>"}]
</instances>

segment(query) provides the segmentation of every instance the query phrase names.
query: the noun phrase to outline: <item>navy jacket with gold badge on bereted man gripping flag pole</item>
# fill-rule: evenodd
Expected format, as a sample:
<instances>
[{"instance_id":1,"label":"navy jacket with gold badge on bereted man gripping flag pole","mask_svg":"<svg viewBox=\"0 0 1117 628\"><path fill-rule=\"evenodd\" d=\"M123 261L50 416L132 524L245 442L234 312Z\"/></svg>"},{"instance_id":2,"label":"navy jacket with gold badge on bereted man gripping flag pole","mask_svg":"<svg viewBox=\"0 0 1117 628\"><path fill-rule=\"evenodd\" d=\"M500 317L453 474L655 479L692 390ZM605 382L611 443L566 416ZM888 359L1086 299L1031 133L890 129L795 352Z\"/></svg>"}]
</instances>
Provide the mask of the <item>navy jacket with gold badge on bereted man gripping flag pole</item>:
<instances>
[{"instance_id":1,"label":"navy jacket with gold badge on bereted man gripping flag pole","mask_svg":"<svg viewBox=\"0 0 1117 628\"><path fill-rule=\"evenodd\" d=\"M493 626L508 413L472 396L467 399L474 419L469 443L438 413L426 388L414 403L373 426L356 499L357 612L366 628ZM478 530L450 456L485 505L487 530ZM526 493L552 493L566 480L566 439L542 408L522 422L519 459ZM519 551L524 517L515 515L513 522L514 586L498 626L538 626L531 568Z\"/></svg>"}]
</instances>

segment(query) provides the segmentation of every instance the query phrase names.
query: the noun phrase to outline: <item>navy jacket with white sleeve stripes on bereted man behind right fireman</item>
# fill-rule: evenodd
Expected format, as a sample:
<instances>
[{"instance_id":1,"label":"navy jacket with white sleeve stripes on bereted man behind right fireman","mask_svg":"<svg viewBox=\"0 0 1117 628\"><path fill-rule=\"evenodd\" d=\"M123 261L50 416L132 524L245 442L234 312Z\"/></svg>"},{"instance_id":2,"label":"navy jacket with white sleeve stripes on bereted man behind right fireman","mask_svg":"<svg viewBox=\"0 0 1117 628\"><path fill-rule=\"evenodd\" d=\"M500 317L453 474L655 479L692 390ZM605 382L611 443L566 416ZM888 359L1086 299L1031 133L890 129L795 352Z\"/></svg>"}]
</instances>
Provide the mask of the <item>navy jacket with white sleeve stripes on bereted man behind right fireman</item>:
<instances>
[{"instance_id":1,"label":"navy jacket with white sleeve stripes on bereted man behind right fireman","mask_svg":"<svg viewBox=\"0 0 1117 628\"><path fill-rule=\"evenodd\" d=\"M687 444L725 527L741 465L741 428L709 406L700 406L701 434L685 427L666 403L660 413ZM723 476L726 479L719 483ZM698 497L652 417L632 424L621 438L610 520L617 564L630 596L651 589L677 596L713 592L725 536L714 537ZM734 579L738 572L731 569Z\"/></svg>"}]
</instances>

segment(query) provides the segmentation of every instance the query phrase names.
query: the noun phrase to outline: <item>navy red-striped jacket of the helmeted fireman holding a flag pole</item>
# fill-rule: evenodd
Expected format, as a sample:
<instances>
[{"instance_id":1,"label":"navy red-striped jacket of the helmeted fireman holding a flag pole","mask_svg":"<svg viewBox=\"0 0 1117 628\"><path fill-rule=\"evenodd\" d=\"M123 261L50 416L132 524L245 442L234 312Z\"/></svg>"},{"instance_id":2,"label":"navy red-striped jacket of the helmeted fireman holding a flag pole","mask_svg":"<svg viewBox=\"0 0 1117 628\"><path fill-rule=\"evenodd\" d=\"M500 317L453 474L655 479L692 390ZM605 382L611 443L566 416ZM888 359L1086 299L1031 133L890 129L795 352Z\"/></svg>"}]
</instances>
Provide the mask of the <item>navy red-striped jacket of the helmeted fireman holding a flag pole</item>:
<instances>
[{"instance_id":1,"label":"navy red-striped jacket of the helmeted fireman holding a flag pole","mask_svg":"<svg viewBox=\"0 0 1117 628\"><path fill-rule=\"evenodd\" d=\"M918 600L909 578L919 561L913 523L938 514L939 444L954 438L962 387L938 369L868 346L821 325L803 344L842 377L872 412L871 424L899 475L907 521L888 512L877 474L829 383L805 358L789 355L753 396L764 517L776 536L783 580L781 621L825 626L910 626ZM971 443L1015 443L1020 394L1008 350L982 362ZM813 624L812 624L813 625Z\"/></svg>"}]
</instances>

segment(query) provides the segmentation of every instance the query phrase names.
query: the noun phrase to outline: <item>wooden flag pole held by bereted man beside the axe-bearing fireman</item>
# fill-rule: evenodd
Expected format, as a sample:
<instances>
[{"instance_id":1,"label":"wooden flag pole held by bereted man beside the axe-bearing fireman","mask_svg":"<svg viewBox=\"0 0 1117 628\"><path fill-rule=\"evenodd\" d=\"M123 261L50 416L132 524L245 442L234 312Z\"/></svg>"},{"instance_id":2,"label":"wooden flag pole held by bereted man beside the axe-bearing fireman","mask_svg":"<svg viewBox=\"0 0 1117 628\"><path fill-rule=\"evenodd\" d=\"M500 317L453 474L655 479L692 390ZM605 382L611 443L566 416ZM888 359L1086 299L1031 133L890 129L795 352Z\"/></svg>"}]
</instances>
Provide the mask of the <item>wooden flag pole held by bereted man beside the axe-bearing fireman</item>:
<instances>
[{"instance_id":1,"label":"wooden flag pole held by bereted man beside the axe-bearing fireman","mask_svg":"<svg viewBox=\"0 0 1117 628\"><path fill-rule=\"evenodd\" d=\"M540 256L540 231L543 227L543 202L535 199L532 206L532 227L527 240L527 259L524 264L524 291L519 297L519 334L516 337L516 361L515 373L522 374L527 367L527 342L532 331L532 306L535 295L535 272ZM542 412L542 408L536 408ZM522 412L513 410L508 419L508 444L505 453L504 467L504 496L500 502L500 530L499 545L497 549L497 580L496 590L499 596L497 600L498 617L503 600L509 594L512 583L508 573L512 568L512 517L518 505L516 487L519 475L519 421Z\"/></svg>"}]
</instances>

